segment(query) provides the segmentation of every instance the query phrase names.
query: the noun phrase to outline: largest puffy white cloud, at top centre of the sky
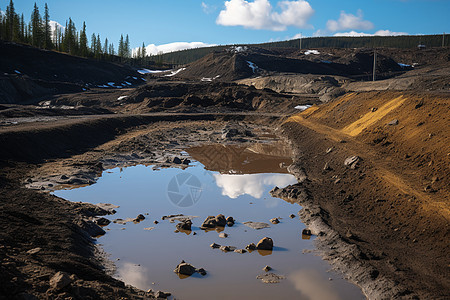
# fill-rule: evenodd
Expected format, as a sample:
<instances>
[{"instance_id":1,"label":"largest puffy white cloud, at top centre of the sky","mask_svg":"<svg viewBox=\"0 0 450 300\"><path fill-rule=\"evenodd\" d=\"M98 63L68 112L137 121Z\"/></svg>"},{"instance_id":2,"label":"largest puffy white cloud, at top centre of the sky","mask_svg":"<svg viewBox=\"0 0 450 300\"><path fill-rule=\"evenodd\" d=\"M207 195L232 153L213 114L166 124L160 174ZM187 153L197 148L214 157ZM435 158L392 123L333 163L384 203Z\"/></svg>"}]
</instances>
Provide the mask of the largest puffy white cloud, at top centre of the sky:
<instances>
[{"instance_id":1,"label":"largest puffy white cloud, at top centre of the sky","mask_svg":"<svg viewBox=\"0 0 450 300\"><path fill-rule=\"evenodd\" d=\"M278 6L280 12L275 12L268 0L229 0L216 23L273 31L284 31L288 26L311 27L307 22L314 10L307 1L280 1Z\"/></svg>"}]
</instances>

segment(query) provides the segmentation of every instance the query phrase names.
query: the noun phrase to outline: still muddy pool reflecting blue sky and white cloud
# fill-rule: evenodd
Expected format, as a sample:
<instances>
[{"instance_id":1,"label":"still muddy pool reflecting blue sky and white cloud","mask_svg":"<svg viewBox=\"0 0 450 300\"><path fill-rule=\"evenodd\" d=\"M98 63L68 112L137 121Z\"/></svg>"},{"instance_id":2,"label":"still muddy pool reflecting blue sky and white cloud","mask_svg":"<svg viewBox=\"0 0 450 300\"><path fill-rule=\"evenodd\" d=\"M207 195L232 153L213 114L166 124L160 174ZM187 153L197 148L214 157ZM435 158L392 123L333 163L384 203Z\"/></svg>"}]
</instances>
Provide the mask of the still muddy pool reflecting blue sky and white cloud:
<instances>
[{"instance_id":1,"label":"still muddy pool reflecting blue sky and white cloud","mask_svg":"<svg viewBox=\"0 0 450 300\"><path fill-rule=\"evenodd\" d=\"M287 174L290 153L282 144L209 145L186 151L197 160L186 170L117 168L104 172L92 186L55 192L71 201L119 205L111 220L148 213L137 224L111 223L98 239L116 263L117 278L143 290L170 291L177 299L364 299L358 287L308 253L314 249L314 237L302 238L304 224L289 217L301 207L269 195L274 186L295 183ZM225 227L225 239L215 230L199 228L207 216L220 213L237 221ZM170 214L198 216L192 232L175 233L177 222L161 220ZM274 217L281 223L270 224ZM246 221L270 227L254 230L243 224ZM209 247L217 243L244 248L265 236L274 241L272 252L224 253ZM181 260L208 274L180 279L173 269ZM264 273L265 265L286 279L262 283L256 276Z\"/></svg>"}]
</instances>

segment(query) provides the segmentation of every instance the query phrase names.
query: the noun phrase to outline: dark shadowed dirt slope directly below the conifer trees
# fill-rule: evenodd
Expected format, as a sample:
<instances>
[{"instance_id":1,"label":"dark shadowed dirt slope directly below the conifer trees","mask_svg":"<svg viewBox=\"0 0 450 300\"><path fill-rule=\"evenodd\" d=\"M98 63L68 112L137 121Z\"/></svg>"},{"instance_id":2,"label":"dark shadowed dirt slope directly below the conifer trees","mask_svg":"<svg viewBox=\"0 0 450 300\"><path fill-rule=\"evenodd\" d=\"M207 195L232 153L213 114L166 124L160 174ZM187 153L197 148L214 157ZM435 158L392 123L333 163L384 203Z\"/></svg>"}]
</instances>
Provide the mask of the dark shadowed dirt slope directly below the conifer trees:
<instances>
[{"instance_id":1,"label":"dark shadowed dirt slope directly below the conifer trees","mask_svg":"<svg viewBox=\"0 0 450 300\"><path fill-rule=\"evenodd\" d=\"M99 85L143 82L128 66L4 41L0 41L0 74L0 103L24 103Z\"/></svg>"}]
</instances>

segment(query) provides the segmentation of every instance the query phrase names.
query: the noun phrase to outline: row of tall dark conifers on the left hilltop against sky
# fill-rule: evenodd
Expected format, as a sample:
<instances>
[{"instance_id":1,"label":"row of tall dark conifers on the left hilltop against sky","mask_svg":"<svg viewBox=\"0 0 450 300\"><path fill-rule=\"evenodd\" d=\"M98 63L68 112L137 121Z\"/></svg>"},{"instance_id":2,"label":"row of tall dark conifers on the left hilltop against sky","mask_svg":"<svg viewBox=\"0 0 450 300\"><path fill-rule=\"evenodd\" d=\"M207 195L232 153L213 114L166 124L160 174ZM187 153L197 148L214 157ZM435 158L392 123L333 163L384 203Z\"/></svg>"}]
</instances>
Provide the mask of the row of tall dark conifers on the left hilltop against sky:
<instances>
[{"instance_id":1,"label":"row of tall dark conifers on the left hilltop against sky","mask_svg":"<svg viewBox=\"0 0 450 300\"><path fill-rule=\"evenodd\" d=\"M71 18L66 21L65 27L57 24L53 27L51 26L47 3L44 7L43 16L37 4L34 3L28 24L24 21L23 13L19 15L16 12L13 0L10 0L5 13L0 12L0 40L110 61L128 61L132 57L128 34L120 36L116 51L114 44L108 38L102 40L100 34L93 33L89 41L85 22L83 22L80 30L77 30ZM144 45L139 49L139 58L145 58Z\"/></svg>"}]
</instances>

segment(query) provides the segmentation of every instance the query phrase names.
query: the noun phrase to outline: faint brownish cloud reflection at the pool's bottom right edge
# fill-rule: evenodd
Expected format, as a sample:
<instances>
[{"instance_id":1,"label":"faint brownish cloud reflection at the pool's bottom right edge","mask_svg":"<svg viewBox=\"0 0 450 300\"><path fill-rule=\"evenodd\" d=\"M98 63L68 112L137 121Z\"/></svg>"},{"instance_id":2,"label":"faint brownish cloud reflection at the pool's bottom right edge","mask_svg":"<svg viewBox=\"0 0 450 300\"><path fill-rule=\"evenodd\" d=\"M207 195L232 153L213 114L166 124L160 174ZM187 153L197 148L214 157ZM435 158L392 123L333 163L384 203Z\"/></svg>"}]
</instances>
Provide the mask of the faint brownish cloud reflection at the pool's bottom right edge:
<instances>
[{"instance_id":1,"label":"faint brownish cloud reflection at the pool's bottom right edge","mask_svg":"<svg viewBox=\"0 0 450 300\"><path fill-rule=\"evenodd\" d=\"M340 300L332 282L323 278L316 270L299 270L289 277L295 289L309 300Z\"/></svg>"}]
</instances>

